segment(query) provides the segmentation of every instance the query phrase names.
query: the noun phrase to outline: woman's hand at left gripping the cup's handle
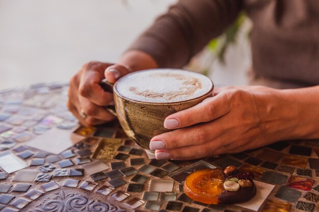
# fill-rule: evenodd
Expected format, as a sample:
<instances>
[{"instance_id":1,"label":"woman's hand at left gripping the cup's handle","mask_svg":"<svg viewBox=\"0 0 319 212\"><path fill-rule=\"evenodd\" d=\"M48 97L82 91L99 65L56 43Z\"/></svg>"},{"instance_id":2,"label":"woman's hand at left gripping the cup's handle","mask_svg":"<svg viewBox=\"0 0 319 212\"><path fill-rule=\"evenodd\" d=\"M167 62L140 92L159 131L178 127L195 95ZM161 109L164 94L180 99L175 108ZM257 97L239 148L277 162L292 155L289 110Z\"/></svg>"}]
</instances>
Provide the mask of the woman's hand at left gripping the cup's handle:
<instances>
[{"instance_id":1,"label":"woman's hand at left gripping the cup's handle","mask_svg":"<svg viewBox=\"0 0 319 212\"><path fill-rule=\"evenodd\" d=\"M116 117L103 106L114 104L113 94L105 92L99 82L106 78L115 83L131 70L117 64L89 62L70 80L67 106L84 126L99 125Z\"/></svg>"}]
</instances>

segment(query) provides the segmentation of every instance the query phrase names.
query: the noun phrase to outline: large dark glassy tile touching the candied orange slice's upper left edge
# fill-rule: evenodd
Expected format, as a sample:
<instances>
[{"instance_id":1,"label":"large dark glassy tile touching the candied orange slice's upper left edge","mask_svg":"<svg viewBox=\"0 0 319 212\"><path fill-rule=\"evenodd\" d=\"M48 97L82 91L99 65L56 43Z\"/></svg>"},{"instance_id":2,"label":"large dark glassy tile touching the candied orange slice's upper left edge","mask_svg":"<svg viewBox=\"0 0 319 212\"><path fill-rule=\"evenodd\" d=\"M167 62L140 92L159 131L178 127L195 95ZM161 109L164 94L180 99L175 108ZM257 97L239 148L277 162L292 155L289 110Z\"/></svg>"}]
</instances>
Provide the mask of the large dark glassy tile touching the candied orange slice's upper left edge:
<instances>
[{"instance_id":1,"label":"large dark glassy tile touching the candied orange slice's upper left edge","mask_svg":"<svg viewBox=\"0 0 319 212\"><path fill-rule=\"evenodd\" d=\"M228 163L229 161L227 161ZM226 163L223 163L220 165L225 165ZM191 166L188 167L184 167L182 169L180 169L179 171L176 171L176 173L172 173L171 175L169 175L169 177L171 177L172 179L175 179L176 181L178 181L179 183L183 184L184 180L186 179L186 177L188 175L190 175L191 173L193 173L194 171L198 171L201 169L214 169L216 168L216 166L213 166L205 161L198 161L194 164L192 164Z\"/></svg>"}]
</instances>

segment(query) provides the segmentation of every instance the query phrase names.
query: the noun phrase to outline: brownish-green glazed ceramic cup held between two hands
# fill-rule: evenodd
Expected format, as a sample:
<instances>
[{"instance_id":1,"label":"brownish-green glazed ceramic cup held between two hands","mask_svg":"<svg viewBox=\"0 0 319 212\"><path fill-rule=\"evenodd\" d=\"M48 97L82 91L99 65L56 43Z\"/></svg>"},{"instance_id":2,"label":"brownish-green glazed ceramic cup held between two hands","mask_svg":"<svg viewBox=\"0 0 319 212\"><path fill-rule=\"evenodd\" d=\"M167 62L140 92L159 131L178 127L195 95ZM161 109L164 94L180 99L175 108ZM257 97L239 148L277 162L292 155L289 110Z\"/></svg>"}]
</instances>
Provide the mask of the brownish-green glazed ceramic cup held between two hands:
<instances>
[{"instance_id":1,"label":"brownish-green glazed ceramic cup held between two hands","mask_svg":"<svg viewBox=\"0 0 319 212\"><path fill-rule=\"evenodd\" d=\"M137 72L130 74L135 73ZM174 103L150 103L136 101L122 96L117 91L116 84L117 82L113 85L106 81L100 83L104 90L109 92L113 90L114 94L115 108L112 106L105 108L117 116L126 135L145 149L149 149L149 143L152 137L172 131L164 128L164 120L167 116L193 107L204 99L211 97L214 88L214 84L211 82L211 89L202 96L194 99Z\"/></svg>"}]
</instances>

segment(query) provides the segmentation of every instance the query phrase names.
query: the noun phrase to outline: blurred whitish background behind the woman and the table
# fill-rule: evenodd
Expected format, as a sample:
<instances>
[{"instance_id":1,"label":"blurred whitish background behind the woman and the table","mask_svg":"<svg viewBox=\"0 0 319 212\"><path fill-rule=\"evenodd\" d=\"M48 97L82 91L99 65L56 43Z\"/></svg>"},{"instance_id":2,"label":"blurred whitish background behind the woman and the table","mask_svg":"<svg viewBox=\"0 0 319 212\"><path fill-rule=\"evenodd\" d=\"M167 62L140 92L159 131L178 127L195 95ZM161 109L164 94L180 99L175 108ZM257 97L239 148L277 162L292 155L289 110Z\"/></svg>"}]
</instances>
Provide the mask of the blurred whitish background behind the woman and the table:
<instances>
[{"instance_id":1,"label":"blurred whitish background behind the woman and the table","mask_svg":"<svg viewBox=\"0 0 319 212\"><path fill-rule=\"evenodd\" d=\"M0 0L0 89L66 82L90 60L116 62L176 0ZM248 42L212 65L222 84L245 84Z\"/></svg>"}]
</instances>

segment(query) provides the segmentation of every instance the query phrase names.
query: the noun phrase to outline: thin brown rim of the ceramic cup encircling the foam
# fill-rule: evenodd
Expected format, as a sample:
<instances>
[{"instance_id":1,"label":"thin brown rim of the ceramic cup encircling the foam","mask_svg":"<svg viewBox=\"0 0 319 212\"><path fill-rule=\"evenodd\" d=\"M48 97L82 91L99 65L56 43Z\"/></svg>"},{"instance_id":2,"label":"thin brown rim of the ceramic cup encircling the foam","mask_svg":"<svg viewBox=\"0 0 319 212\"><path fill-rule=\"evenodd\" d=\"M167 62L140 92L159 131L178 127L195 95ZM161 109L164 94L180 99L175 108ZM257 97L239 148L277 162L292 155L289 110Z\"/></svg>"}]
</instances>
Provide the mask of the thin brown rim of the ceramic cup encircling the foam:
<instances>
[{"instance_id":1,"label":"thin brown rim of the ceramic cup encircling the foam","mask_svg":"<svg viewBox=\"0 0 319 212\"><path fill-rule=\"evenodd\" d=\"M181 70L181 71L193 72L193 71L189 71L189 70L175 69L175 68L156 68L156 69L169 69L169 70ZM131 73L127 74L127 75L134 74L136 72L144 72L144 71L150 71L150 70L156 70L156 69L145 69L145 70L141 70L141 71L135 71L135 72L131 72ZM197 73L197 72L195 72L195 73ZM201 73L198 73L198 74L201 74ZM125 75L125 76L127 76L127 75ZM205 77L211 82L211 88L206 93L204 93L204 94L202 94L202 95L200 95L198 97L195 97L193 99L183 100L183 101L176 101L176 102L145 102L145 101L138 101L138 100L130 99L128 97L124 97L123 95L121 95L118 92L118 90L116 89L116 84L117 84L118 81L116 81L114 83L113 93L116 94L117 96L121 97L122 99L126 99L126 100L129 100L130 102L136 102L136 103L143 103L143 104L150 104L150 105L174 105L174 104L180 104L180 103L185 103L185 102L194 101L196 99L200 99L200 98L202 98L202 97L204 97L207 94L212 92L212 90L214 89L214 82L212 82L209 77L207 77L207 76L205 76Z\"/></svg>"}]
</instances>

